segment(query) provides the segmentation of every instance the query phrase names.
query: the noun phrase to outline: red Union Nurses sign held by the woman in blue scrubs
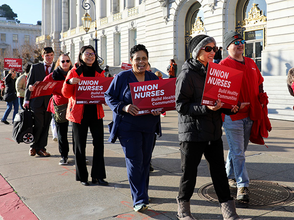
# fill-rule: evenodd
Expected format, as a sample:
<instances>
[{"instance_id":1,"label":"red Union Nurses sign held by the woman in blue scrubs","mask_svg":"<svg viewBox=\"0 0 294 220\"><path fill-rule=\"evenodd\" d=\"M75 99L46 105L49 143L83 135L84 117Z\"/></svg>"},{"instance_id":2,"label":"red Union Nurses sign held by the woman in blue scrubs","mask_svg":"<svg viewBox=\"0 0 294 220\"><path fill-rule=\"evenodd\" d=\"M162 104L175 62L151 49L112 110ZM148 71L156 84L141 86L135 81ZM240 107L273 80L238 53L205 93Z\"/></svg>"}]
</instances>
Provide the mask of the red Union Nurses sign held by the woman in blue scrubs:
<instances>
[{"instance_id":1,"label":"red Union Nurses sign held by the woman in blue scrubs","mask_svg":"<svg viewBox=\"0 0 294 220\"><path fill-rule=\"evenodd\" d=\"M138 115L150 114L152 110L175 110L176 78L130 83L133 104Z\"/></svg>"}]
</instances>

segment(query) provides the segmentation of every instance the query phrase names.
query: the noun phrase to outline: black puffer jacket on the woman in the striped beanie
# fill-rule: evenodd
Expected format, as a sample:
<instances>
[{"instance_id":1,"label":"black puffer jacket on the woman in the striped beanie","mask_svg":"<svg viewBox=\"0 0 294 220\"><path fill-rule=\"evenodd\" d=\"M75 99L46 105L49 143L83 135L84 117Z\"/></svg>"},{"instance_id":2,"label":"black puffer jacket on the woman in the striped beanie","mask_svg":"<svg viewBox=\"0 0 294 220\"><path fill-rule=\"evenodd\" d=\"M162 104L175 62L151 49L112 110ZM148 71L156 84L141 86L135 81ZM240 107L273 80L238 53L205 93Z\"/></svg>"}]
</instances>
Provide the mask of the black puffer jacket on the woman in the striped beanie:
<instances>
[{"instance_id":1,"label":"black puffer jacket on the woman in the striped beanie","mask_svg":"<svg viewBox=\"0 0 294 220\"><path fill-rule=\"evenodd\" d=\"M180 141L213 141L222 135L221 113L230 109L208 110L201 105L207 68L195 59L187 60L176 80L175 107L178 111Z\"/></svg>"}]
</instances>

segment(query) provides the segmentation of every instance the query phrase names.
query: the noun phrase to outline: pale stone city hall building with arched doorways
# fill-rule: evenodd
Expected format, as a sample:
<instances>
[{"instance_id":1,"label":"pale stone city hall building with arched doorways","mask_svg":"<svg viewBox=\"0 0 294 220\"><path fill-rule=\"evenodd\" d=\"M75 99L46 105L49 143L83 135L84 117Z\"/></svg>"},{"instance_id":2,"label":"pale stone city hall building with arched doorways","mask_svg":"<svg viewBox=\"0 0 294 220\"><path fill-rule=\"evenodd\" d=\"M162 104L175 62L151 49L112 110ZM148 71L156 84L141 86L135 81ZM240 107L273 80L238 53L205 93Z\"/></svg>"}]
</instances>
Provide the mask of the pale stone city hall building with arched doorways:
<instances>
[{"instance_id":1,"label":"pale stone city hall building with arched doorways","mask_svg":"<svg viewBox=\"0 0 294 220\"><path fill-rule=\"evenodd\" d=\"M85 3L92 18L88 33L81 20ZM167 74L170 59L180 69L191 57L187 45L193 36L212 36L224 47L223 34L235 30L246 41L244 55L265 78L270 118L294 120L294 97L286 83L294 67L294 0L42 0L42 7L38 44L51 45L56 55L70 52L76 62L83 45L95 47L97 26L97 52L112 73L130 63L129 50L136 44L147 47L153 72Z\"/></svg>"}]
</instances>

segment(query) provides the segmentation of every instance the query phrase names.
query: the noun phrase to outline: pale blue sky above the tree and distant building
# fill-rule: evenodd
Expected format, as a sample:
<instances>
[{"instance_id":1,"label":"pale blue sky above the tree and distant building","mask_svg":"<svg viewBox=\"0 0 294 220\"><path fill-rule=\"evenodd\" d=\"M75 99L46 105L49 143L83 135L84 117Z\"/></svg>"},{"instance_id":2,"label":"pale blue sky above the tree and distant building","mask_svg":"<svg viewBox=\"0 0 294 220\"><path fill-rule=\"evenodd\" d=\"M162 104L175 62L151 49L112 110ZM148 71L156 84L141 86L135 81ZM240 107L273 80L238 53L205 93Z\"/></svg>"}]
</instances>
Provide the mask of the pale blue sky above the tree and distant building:
<instances>
[{"instance_id":1,"label":"pale blue sky above the tree and distant building","mask_svg":"<svg viewBox=\"0 0 294 220\"><path fill-rule=\"evenodd\" d=\"M9 5L21 23L42 21L42 0L0 0L2 4Z\"/></svg>"}]
</instances>

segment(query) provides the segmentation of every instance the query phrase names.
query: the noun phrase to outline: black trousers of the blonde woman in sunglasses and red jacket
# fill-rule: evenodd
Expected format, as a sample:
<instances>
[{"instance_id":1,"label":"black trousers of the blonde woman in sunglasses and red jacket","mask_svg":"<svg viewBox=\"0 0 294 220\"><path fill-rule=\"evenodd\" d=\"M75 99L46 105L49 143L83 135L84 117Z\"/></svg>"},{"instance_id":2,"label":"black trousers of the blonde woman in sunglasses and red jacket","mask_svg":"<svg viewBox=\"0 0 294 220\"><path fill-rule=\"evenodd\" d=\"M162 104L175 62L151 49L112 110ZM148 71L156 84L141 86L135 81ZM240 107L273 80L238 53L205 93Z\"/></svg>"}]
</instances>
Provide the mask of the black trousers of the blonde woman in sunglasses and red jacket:
<instances>
[{"instance_id":1,"label":"black trousers of the blonde woman in sunglasses and red jacket","mask_svg":"<svg viewBox=\"0 0 294 220\"><path fill-rule=\"evenodd\" d=\"M54 116L53 116L55 125L56 125L56 132L58 136L58 150L61 155L61 157L68 157L70 147L69 147L69 140L67 137L67 133L69 130L69 121L66 122L56 122Z\"/></svg>"}]
</instances>

